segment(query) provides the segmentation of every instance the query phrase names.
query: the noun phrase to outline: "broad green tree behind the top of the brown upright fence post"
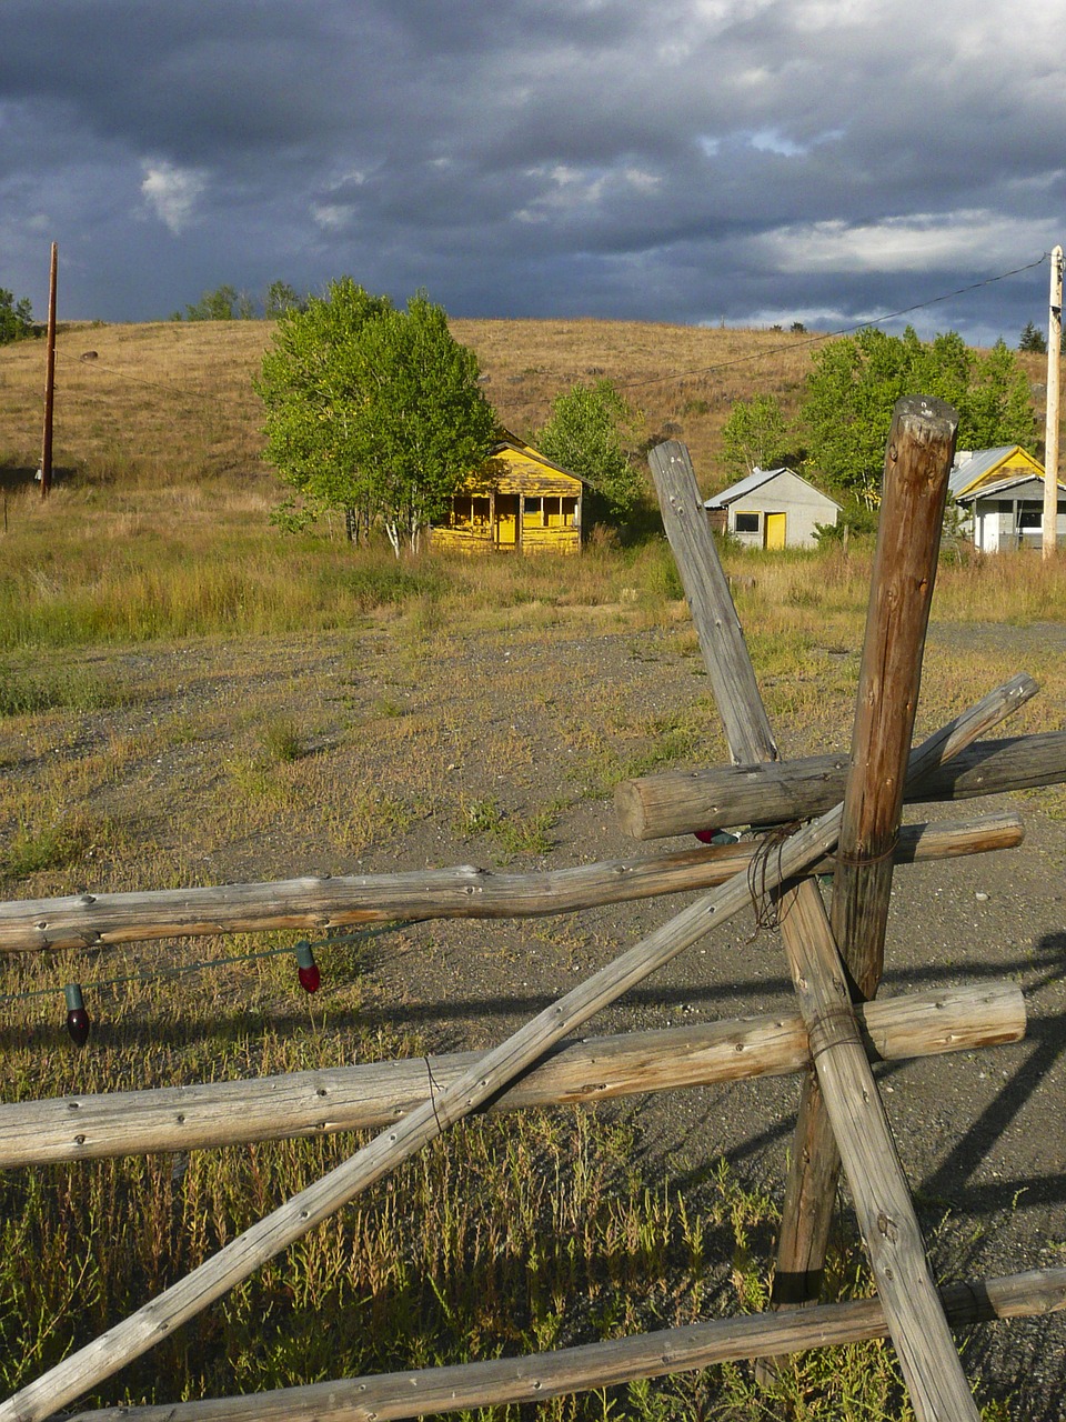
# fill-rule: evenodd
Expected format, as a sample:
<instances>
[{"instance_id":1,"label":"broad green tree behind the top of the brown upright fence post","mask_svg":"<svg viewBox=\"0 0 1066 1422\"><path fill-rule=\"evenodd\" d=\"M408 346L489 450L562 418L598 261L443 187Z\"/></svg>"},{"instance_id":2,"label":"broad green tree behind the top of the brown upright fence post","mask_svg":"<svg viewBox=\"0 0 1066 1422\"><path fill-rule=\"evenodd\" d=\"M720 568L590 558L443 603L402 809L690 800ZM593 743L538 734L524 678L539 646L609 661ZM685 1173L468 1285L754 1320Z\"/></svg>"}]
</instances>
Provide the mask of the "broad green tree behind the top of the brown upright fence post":
<instances>
[{"instance_id":1,"label":"broad green tree behind the top of the brown upright fence post","mask_svg":"<svg viewBox=\"0 0 1066 1422\"><path fill-rule=\"evenodd\" d=\"M1003 341L982 356L957 331L924 343L911 327L903 336L868 328L826 346L807 377L800 419L812 471L876 505L893 407L903 395L954 405L961 448L1035 448L1028 380Z\"/></svg>"}]
</instances>

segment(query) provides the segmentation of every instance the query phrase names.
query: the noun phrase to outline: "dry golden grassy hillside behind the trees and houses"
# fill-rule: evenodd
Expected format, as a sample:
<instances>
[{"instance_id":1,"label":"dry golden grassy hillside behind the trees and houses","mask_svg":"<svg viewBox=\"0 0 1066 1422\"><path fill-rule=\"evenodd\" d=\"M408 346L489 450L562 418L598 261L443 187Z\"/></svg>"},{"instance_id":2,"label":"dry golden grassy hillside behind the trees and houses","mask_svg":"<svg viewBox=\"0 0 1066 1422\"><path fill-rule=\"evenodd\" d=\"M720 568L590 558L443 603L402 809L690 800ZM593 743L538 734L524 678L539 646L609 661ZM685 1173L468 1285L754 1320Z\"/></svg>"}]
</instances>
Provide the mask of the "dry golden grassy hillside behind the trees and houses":
<instances>
[{"instance_id":1,"label":"dry golden grassy hillside behind the trees and houses","mask_svg":"<svg viewBox=\"0 0 1066 1422\"><path fill-rule=\"evenodd\" d=\"M607 377L644 412L647 437L684 439L708 488L726 478L719 434L738 398L795 405L810 338L635 321L453 321L500 419L529 435L574 381ZM57 340L58 466L152 483L260 476L252 377L271 323L74 326ZM0 462L36 468L44 347L0 350ZM273 482L273 479L271 479Z\"/></svg>"}]
</instances>

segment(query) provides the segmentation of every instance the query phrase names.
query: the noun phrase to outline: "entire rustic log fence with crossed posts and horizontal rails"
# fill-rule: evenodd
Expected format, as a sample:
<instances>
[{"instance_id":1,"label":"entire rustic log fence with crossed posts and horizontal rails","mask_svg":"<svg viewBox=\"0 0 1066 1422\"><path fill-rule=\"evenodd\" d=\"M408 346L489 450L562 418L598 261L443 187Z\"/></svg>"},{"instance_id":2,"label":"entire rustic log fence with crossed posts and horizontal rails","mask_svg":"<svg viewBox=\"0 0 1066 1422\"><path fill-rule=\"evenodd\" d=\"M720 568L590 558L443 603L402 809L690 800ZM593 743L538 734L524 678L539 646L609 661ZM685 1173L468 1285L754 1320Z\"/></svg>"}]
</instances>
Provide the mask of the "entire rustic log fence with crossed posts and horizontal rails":
<instances>
[{"instance_id":1,"label":"entire rustic log fence with crossed posts and horizontal rails","mask_svg":"<svg viewBox=\"0 0 1066 1422\"><path fill-rule=\"evenodd\" d=\"M246 1418L401 1418L509 1401L540 1401L726 1358L888 1335L920 1419L976 1409L951 1328L1066 1308L1066 1270L975 1280L938 1290L870 1061L1018 1041L1025 1007L1013 984L934 990L873 1001L895 865L1018 845L1016 815L900 826L904 798L967 798L1066 779L1066 735L979 741L1036 691L1018 675L910 749L935 576L954 415L935 401L897 407L849 762L780 762L743 630L714 552L688 452L652 451L671 545L726 728L733 765L650 776L618 793L623 826L655 838L709 826L800 828L738 845L614 860L542 875L472 866L422 875L300 879L159 893L80 894L0 904L0 951L99 947L154 937L338 926L428 917L533 916L701 890L641 941L534 1015L489 1052L0 1106L0 1165L378 1129L328 1175L284 1202L199 1268L6 1402L0 1422L68 1408L159 1338L195 1317L307 1234L362 1189L475 1111L587 1103L634 1092L800 1072L796 1165L786 1186L775 1307L522 1359L379 1378L334 1379L252 1398L122 1406L80 1416L125 1422ZM667 826L667 828L664 828ZM831 912L814 875L833 875ZM576 1039L600 1008L644 981L758 899L777 916L796 1011L684 1030ZM431 1089L431 1095L428 1095ZM824 1108L824 1109L823 1109ZM839 1152L839 1155L837 1155ZM843 1156L878 1297L817 1303L829 1206ZM789 1304L809 1307L789 1310ZM772 1376L772 1362L765 1376Z\"/></svg>"}]
</instances>

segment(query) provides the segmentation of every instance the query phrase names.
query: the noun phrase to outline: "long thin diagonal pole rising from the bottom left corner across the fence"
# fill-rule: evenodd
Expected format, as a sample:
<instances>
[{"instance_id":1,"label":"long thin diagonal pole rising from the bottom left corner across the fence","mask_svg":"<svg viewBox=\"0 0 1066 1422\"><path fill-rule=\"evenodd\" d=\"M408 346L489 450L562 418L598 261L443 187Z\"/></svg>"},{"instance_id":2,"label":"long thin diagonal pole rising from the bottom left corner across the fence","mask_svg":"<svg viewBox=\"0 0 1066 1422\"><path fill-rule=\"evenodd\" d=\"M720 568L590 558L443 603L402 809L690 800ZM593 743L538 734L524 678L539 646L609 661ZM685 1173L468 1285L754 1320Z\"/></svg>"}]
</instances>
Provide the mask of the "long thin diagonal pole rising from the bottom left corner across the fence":
<instances>
[{"instance_id":1,"label":"long thin diagonal pole rising from the bottom left corner across the fence","mask_svg":"<svg viewBox=\"0 0 1066 1422\"><path fill-rule=\"evenodd\" d=\"M1015 678L996 688L964 715L942 727L911 752L910 771L921 775L957 754L996 725L1032 695L1030 678ZM768 866L766 887L803 873L836 843L840 832L837 806L800 829ZM593 974L551 1007L539 1012L428 1105L418 1106L395 1126L358 1150L328 1175L293 1196L271 1214L244 1230L212 1258L172 1284L151 1303L112 1325L92 1342L71 1352L34 1378L6 1402L0 1422L43 1422L68 1402L109 1378L189 1318L195 1318L229 1288L253 1274L269 1258L328 1219L361 1190L409 1159L486 1101L503 1091L557 1042L588 1021L600 1008L637 987L692 943L738 913L749 902L746 876L736 875L721 889L682 909L614 963Z\"/></svg>"}]
</instances>

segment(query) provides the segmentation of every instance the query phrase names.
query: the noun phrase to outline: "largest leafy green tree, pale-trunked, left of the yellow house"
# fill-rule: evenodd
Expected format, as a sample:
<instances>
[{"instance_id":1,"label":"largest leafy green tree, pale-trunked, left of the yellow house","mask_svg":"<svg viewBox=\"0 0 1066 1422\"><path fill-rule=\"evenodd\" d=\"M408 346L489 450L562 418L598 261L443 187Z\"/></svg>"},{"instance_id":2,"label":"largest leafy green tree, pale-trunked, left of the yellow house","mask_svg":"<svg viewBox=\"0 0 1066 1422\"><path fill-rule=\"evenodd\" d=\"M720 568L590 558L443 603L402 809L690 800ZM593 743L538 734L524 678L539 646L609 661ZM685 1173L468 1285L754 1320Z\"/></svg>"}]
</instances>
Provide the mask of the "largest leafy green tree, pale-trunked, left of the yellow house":
<instances>
[{"instance_id":1,"label":"largest leafy green tree, pale-trunked, left of the yellow house","mask_svg":"<svg viewBox=\"0 0 1066 1422\"><path fill-rule=\"evenodd\" d=\"M341 508L414 550L488 455L496 415L478 358L424 292L398 310L351 277L281 313L256 390L267 459L296 492L283 522Z\"/></svg>"}]
</instances>

